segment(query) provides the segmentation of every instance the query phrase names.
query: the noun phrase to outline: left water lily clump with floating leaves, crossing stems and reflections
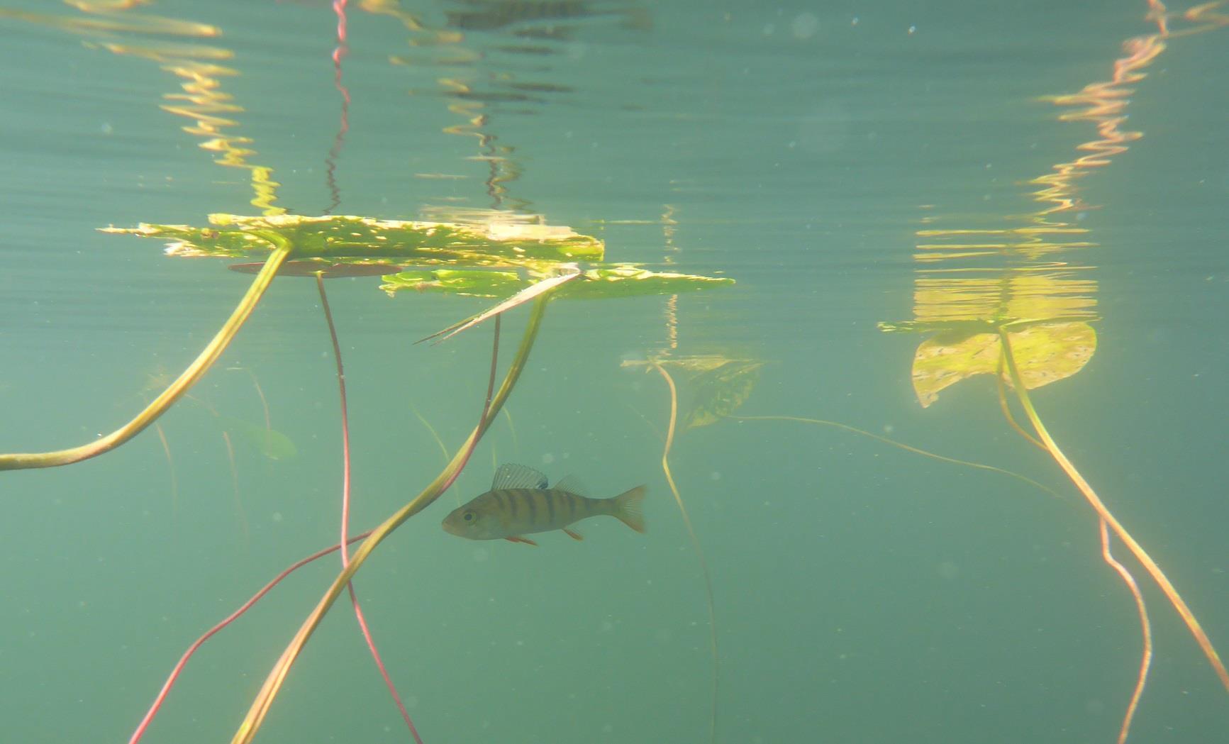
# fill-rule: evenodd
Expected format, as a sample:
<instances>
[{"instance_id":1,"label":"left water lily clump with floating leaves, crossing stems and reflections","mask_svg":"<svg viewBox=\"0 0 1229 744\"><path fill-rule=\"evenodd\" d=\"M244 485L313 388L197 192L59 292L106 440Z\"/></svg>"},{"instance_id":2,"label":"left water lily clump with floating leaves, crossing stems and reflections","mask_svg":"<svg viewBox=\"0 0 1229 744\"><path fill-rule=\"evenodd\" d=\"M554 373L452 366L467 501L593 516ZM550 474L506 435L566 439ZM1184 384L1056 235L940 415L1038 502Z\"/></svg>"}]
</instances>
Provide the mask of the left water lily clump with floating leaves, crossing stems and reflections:
<instances>
[{"instance_id":1,"label":"left water lily clump with floating leaves, crossing stems and reflections","mask_svg":"<svg viewBox=\"0 0 1229 744\"><path fill-rule=\"evenodd\" d=\"M370 4L371 12L396 12L396 4ZM342 4L344 6L344 4ZM605 245L601 240L580 235L565 226L553 226L536 214L512 212L501 208L472 210L457 220L381 220L358 215L297 215L288 214L277 203L277 187L272 168L252 165L256 155L251 139L235 135L229 129L237 122L226 116L234 116L243 109L232 102L230 96L220 90L220 77L235 75L236 70L222 68L219 61L232 54L219 47L182 46L144 39L151 34L172 34L181 37L213 38L220 31L200 23L188 23L167 18L155 18L132 12L130 5L111 6L106 4L79 4L77 9L85 17L57 17L39 14L6 11L4 17L59 28L75 34L90 37L91 43L116 54L152 60L162 69L171 71L182 82L182 92L165 96L163 108L176 116L192 121L184 129L193 137L204 138L202 148L216 152L219 165L241 168L249 173L254 192L252 204L261 209L259 215L210 214L204 226L140 224L135 228L108 226L101 230L113 235L150 237L166 243L166 253L184 258L222 258L237 261L231 269L253 273L252 284L240 299L230 317L199 352L187 368L171 380L147 405L133 418L109 434L101 435L86 444L55 449L49 451L26 451L0 454L0 470L50 469L107 454L133 440L149 427L157 427L157 419L176 402L189 395L189 390L203 379L226 352L243 325L252 317L258 303L268 291L273 280L281 277L313 277L320 288L322 309L328 321L331 339L337 362L339 395L342 401L342 449L343 449L343 486L342 486L342 526L338 545L326 547L294 563L285 572L272 579L251 600L206 631L172 669L171 676L140 722L132 742L140 739L147 730L154 716L166 700L176 679L184 665L200 647L222 627L247 611L256 601L267 596L285 576L311 561L329 555L334 550L340 553L342 567L328 585L316 609L307 616L299 632L293 637L286 651L270 671L264 686L256 696L247 717L241 723L236 742L249 742L261 727L265 713L273 705L286 675L302 648L306 646L323 616L328 612L342 592L349 592L351 606L364 633L372 658L376 660L390 692L392 694L412 735L418 740L418 733L406 712L392 681L383 669L375 642L366 627L363 611L354 593L351 579L363 567L372 551L410 516L429 507L458 477L468 462L474 448L503 410L516 381L525 369L533 347L547 304L554 299L611 299L658 294L677 294L696 289L724 287L732 283L728 278L709 278L675 272L654 272L632 263L610 263L605 261ZM407 18L407 27L410 26ZM338 89L348 93L340 85L340 59L344 55L344 17L339 17L339 46L334 50ZM124 39L120 34L130 34ZM340 194L334 178L337 157L340 155L342 138L348 127L343 107L342 125L334 146L326 159L329 191L333 200L326 213L333 212L340 203ZM493 138L483 135L483 146L493 146ZM497 207L503 207L503 186L509 178L505 166L493 170L488 180L489 193L498 197ZM493 166L494 168L494 166ZM256 259L256 261L253 261ZM329 277L381 277L382 289L395 296L403 290L413 294L451 294L458 296L489 298L497 300L490 309L445 328L435 337L447 338L481 322L492 321L497 328L495 352L492 354L492 369L488 391L482 406L482 413L465 443L455 451L444 470L409 499L401 509L390 515L372 530L360 535L349 535L349 482L350 457L348 417L345 413L344 371L340 358L340 346L332 322L332 310L323 291L323 279ZM497 387L498 328L501 314L522 304L531 304L527 327L520 346L509 364L503 382ZM429 337L431 338L431 337ZM221 414L218 414L221 418ZM254 424L240 425L229 422L231 429L253 438L258 446L275 453L286 446L289 440L273 435L270 425L261 428ZM160 438L166 445L165 435ZM230 438L227 435L227 443ZM263 444L261 444L263 443ZM168 449L167 449L168 451ZM347 546L361 541L351 553Z\"/></svg>"}]
</instances>

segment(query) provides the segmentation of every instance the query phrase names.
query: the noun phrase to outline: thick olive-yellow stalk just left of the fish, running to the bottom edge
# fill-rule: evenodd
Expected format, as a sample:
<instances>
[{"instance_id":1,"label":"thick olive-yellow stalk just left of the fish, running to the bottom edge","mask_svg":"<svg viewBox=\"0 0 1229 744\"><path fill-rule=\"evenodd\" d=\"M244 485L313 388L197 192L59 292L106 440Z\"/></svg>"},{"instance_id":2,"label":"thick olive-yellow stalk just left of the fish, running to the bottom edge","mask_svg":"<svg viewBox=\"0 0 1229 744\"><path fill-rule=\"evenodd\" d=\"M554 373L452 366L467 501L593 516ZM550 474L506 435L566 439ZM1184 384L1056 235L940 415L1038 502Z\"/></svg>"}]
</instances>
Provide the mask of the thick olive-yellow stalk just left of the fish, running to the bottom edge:
<instances>
[{"instance_id":1,"label":"thick olive-yellow stalk just left of the fish, running to the bottom edge","mask_svg":"<svg viewBox=\"0 0 1229 744\"><path fill-rule=\"evenodd\" d=\"M324 615L340 596L342 590L345 589L345 584L354 578L354 574L359 572L359 568L366 562L371 552L381 544L383 540L393 532L397 528L406 523L407 519L418 514L426 507L429 507L436 498L444 493L452 481L460 475L461 469L465 466L466 461L469 459L469 454L473 448L485 434L487 429L490 427L490 422L499 413L503 407L504 401L511 394L512 387L516 385L516 380L520 378L521 371L525 369L525 363L528 360L530 350L533 348L533 339L537 337L538 327L542 325L542 316L546 312L546 304L549 295L540 296L530 312L528 325L525 328L525 334L521 337L521 346L516 349L516 357L512 359L511 366L509 366L506 375L504 376L503 384L499 386L499 391L490 400L490 405L484 407L482 419L478 425L474 427L473 432L466 439L461 449L457 450L456 455L449 462L440 475L431 481L426 488L424 488L417 497L413 498L408 504L398 509L392 516L386 519L380 526L371 531L371 536L367 537L363 545L354 551L354 556L350 558L349 566L342 569L333 579L328 590L317 603L316 609L311 611L311 615L304 621L302 626L295 633L295 637L286 646L286 649L281 653L281 657L274 664L273 669L269 671L268 678L265 678L264 684L261 686L261 691L257 692L256 700L252 701L252 707L248 710L247 716L245 716L243 722L240 723L238 730L235 732L232 744L248 744L256 737L256 732L261 728L264 722L265 714L268 714L269 708L273 706L273 700L277 697L278 691L281 689L283 683L286 679L286 674L290 673L290 667L302 653L304 647L307 641L320 627L321 621Z\"/></svg>"}]
</instances>

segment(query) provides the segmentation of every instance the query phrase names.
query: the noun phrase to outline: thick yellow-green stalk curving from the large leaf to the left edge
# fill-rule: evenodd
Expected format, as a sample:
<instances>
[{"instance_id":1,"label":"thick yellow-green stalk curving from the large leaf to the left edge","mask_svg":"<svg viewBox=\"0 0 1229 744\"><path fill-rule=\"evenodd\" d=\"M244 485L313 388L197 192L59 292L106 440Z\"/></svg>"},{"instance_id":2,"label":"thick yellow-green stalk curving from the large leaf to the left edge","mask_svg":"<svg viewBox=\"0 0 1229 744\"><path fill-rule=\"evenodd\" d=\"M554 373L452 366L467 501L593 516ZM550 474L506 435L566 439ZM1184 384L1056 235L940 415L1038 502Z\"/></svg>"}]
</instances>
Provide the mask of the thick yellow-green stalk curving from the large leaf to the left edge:
<instances>
[{"instance_id":1,"label":"thick yellow-green stalk curving from the large leaf to the left edge","mask_svg":"<svg viewBox=\"0 0 1229 744\"><path fill-rule=\"evenodd\" d=\"M231 314L226 323L218 331L209 346L205 347L200 355L198 355L188 369L183 370L171 386L162 391L162 395L154 398L154 401L145 407L144 411L136 414L136 418L128 422L123 427L116 429L106 437L100 437L98 439L91 441L90 444L82 444L81 446L74 446L65 450L57 450L53 453L18 453L12 455L0 455L0 470L25 470L31 467L57 467L59 465L71 465L73 462L80 462L81 460L88 460L90 457L98 456L103 453L108 453L120 444L124 444L133 437L141 433L145 427L154 423L157 417L166 413L166 411L175 405L188 389L192 387L197 380L199 380L209 368L213 366L214 362L221 357L222 352L230 344L235 334L247 321L248 316L252 315L252 310L256 309L256 304L261 301L261 296L264 295L264 290L269 288L273 278L278 273L278 268L285 262L286 257L290 256L293 251L293 245L289 240L279 235L263 236L268 239L274 239L274 251L269 255L269 258L264 262L264 268L261 273L256 275L256 280L247 289L243 299L240 300L238 306Z\"/></svg>"}]
</instances>

